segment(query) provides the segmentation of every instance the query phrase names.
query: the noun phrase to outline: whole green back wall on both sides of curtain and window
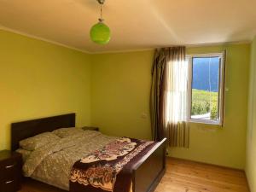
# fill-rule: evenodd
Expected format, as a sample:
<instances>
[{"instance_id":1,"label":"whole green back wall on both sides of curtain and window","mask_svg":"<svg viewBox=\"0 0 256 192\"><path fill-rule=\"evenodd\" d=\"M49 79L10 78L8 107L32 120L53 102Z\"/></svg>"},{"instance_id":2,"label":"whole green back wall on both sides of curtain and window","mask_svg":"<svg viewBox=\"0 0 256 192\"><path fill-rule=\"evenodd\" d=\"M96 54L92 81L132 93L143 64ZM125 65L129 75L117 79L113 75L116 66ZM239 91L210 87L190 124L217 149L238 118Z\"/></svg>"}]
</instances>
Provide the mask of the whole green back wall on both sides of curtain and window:
<instances>
[{"instance_id":1,"label":"whole green back wall on both sides of curtain and window","mask_svg":"<svg viewBox=\"0 0 256 192\"><path fill-rule=\"evenodd\" d=\"M224 127L191 124L190 148L171 156L244 168L247 129L249 44L189 48L188 54L227 49ZM148 96L153 51L92 55L91 122L117 136L150 137ZM143 118L146 114L146 119Z\"/></svg>"}]
</instances>

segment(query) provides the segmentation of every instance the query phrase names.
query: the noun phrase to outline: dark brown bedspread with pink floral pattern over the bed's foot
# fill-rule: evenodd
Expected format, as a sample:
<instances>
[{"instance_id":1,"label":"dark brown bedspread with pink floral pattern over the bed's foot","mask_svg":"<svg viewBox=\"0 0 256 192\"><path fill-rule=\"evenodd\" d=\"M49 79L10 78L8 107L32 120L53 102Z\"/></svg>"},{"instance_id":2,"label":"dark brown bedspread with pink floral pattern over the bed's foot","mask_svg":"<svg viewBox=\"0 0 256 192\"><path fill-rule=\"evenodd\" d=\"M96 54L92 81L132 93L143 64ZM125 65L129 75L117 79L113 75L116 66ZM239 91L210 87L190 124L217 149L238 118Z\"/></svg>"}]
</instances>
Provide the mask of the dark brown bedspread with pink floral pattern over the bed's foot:
<instances>
[{"instance_id":1,"label":"dark brown bedspread with pink floral pattern over the bed's foot","mask_svg":"<svg viewBox=\"0 0 256 192\"><path fill-rule=\"evenodd\" d=\"M129 192L132 167L153 144L154 142L122 137L87 154L73 165L70 191Z\"/></svg>"}]
</instances>

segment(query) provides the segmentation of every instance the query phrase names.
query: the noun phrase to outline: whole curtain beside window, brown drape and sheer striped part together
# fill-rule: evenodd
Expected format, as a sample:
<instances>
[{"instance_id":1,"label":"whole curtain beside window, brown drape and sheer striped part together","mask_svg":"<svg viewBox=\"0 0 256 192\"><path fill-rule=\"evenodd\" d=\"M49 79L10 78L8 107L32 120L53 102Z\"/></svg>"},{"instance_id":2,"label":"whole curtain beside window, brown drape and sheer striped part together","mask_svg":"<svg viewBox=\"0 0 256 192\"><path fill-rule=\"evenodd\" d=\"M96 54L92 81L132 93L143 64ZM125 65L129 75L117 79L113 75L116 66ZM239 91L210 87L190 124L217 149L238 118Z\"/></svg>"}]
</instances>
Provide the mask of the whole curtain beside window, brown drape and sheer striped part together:
<instances>
[{"instance_id":1,"label":"whole curtain beside window, brown drape and sheer striped part together","mask_svg":"<svg viewBox=\"0 0 256 192\"><path fill-rule=\"evenodd\" d=\"M155 141L167 137L169 146L188 148L189 66L185 56L184 47L155 51L150 112Z\"/></svg>"}]
</instances>

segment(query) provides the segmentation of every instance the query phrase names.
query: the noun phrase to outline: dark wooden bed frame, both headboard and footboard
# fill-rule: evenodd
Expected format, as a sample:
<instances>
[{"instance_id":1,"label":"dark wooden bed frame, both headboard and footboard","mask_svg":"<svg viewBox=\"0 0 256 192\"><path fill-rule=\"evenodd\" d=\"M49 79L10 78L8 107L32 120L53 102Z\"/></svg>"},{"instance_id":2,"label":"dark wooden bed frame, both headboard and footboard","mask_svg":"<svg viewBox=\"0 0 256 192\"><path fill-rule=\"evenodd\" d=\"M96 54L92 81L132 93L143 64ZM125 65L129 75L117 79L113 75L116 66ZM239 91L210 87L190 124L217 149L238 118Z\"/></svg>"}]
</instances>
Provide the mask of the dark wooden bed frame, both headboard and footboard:
<instances>
[{"instance_id":1,"label":"dark wooden bed frame, both headboard and footboard","mask_svg":"<svg viewBox=\"0 0 256 192\"><path fill-rule=\"evenodd\" d=\"M19 148L19 142L45 131L61 127L75 127L75 113L43 119L32 119L11 125L11 149ZM153 192L166 171L166 138L157 143L137 164L132 172L133 192Z\"/></svg>"}]
</instances>

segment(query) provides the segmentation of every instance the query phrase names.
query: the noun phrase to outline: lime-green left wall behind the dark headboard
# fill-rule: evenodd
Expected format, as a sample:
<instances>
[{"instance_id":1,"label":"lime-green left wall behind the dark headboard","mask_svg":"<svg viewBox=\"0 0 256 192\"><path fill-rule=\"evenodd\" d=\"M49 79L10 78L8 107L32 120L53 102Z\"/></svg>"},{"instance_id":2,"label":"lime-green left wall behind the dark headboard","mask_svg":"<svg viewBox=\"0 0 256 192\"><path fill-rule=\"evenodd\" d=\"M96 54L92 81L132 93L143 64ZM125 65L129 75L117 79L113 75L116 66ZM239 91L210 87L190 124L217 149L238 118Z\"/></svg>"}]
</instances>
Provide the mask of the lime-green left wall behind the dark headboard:
<instances>
[{"instance_id":1,"label":"lime-green left wall behind the dark headboard","mask_svg":"<svg viewBox=\"0 0 256 192\"><path fill-rule=\"evenodd\" d=\"M90 125L89 55L0 31L0 93L0 149L15 121L75 112Z\"/></svg>"}]
</instances>

